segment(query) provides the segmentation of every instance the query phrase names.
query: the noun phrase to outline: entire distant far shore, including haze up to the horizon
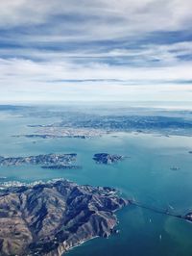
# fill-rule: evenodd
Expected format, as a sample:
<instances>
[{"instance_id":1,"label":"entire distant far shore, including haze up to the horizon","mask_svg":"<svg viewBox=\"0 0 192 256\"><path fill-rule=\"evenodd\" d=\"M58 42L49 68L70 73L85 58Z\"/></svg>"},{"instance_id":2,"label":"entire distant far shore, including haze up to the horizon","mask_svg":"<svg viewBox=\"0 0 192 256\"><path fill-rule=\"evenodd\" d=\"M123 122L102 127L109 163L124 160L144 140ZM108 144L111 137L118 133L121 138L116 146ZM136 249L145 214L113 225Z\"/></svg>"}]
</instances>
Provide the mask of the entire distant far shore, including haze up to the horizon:
<instances>
[{"instance_id":1,"label":"entire distant far shore, including haze up to the horizon","mask_svg":"<svg viewBox=\"0 0 192 256\"><path fill-rule=\"evenodd\" d=\"M28 125L27 138L93 138L120 132L156 134L161 136L191 136L192 112L186 110L136 108L119 106L62 107L0 106L1 114L38 117L40 123ZM44 122L43 118L54 121ZM33 129L37 129L33 131Z\"/></svg>"}]
</instances>

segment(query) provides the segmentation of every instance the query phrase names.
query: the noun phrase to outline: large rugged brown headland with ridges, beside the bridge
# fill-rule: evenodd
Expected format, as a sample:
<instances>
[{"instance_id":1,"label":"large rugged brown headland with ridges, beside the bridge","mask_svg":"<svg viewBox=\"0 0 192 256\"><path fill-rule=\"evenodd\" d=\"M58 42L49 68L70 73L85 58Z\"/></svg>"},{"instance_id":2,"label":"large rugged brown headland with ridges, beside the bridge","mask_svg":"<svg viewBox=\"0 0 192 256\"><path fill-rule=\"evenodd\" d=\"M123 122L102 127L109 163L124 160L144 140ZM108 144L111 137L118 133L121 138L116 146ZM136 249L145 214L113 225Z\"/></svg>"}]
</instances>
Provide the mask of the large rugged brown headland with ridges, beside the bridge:
<instances>
[{"instance_id":1,"label":"large rugged brown headland with ridges, beside the bridge","mask_svg":"<svg viewBox=\"0 0 192 256\"><path fill-rule=\"evenodd\" d=\"M117 233L115 211L129 204L114 189L67 180L1 185L1 255L60 256Z\"/></svg>"}]
</instances>

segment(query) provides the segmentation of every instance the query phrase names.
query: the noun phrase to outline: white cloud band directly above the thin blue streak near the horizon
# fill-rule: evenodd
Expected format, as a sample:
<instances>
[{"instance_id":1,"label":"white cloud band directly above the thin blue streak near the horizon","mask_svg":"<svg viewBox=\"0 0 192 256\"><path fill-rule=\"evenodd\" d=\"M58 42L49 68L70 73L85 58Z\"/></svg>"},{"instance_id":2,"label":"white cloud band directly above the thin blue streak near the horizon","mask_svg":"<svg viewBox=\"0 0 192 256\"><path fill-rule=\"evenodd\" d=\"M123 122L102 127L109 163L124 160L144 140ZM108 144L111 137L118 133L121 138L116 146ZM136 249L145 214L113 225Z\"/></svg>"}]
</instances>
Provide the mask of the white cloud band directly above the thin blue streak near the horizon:
<instances>
[{"instance_id":1,"label":"white cloud band directly above the thin blue streak near the horizon","mask_svg":"<svg viewBox=\"0 0 192 256\"><path fill-rule=\"evenodd\" d=\"M1 81L47 81L116 79L133 82L192 80L192 63L165 66L119 66L101 63L75 64L68 61L36 63L29 60L0 60Z\"/></svg>"}]
</instances>

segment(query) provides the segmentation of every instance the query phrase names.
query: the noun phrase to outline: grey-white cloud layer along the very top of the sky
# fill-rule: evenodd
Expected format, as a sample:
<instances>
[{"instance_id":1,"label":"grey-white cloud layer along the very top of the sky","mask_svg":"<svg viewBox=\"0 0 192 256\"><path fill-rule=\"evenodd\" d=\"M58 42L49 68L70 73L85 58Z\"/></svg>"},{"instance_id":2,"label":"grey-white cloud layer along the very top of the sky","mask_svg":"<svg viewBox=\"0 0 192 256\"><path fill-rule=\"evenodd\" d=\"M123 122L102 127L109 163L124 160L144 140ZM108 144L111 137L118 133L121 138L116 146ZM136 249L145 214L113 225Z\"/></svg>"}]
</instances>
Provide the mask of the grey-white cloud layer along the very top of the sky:
<instances>
[{"instance_id":1,"label":"grey-white cloud layer along the very top of the sky","mask_svg":"<svg viewBox=\"0 0 192 256\"><path fill-rule=\"evenodd\" d=\"M191 9L190 0L8 0L0 2L0 26L46 24L54 15L65 15L64 21L49 24L48 33L26 39L120 38L191 28Z\"/></svg>"}]
</instances>

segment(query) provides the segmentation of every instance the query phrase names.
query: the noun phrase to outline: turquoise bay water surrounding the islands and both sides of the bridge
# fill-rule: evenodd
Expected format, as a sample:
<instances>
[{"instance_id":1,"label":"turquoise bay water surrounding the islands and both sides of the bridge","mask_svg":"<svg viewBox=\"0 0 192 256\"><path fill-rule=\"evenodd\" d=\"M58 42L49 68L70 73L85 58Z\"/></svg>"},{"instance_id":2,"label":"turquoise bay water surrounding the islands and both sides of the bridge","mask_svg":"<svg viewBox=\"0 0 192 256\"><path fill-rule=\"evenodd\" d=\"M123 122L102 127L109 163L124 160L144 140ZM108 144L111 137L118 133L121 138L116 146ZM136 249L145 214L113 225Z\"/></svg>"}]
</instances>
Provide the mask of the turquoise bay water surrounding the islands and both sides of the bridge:
<instances>
[{"instance_id":1,"label":"turquoise bay water surrounding the islands and both sides of the bridge","mask_svg":"<svg viewBox=\"0 0 192 256\"><path fill-rule=\"evenodd\" d=\"M158 208L174 207L185 214L192 209L192 138L120 134L88 140L35 140L12 138L30 133L27 124L50 123L48 119L1 117L0 155L27 156L46 153L78 154L82 169L54 170L39 166L1 166L0 177L34 181L67 178L79 184L110 186L124 196ZM54 120L55 121L55 120ZM96 165L95 153L108 152L130 158L113 166ZM180 170L171 170L180 166ZM117 213L119 235L94 239L68 252L69 256L191 256L192 224L130 206ZM159 236L161 235L161 240Z\"/></svg>"}]
</instances>

